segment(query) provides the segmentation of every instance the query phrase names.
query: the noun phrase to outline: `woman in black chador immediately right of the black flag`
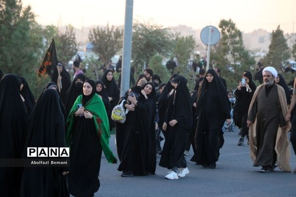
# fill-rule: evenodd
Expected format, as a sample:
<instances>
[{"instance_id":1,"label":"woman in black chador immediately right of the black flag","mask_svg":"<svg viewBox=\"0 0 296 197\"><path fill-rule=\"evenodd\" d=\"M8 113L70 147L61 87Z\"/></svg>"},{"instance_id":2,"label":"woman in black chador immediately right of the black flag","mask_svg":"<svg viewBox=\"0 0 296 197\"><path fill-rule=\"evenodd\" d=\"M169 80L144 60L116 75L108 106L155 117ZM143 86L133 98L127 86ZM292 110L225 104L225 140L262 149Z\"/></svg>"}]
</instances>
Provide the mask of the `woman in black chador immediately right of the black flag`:
<instances>
[{"instance_id":1,"label":"woman in black chador immediately right of the black flag","mask_svg":"<svg viewBox=\"0 0 296 197\"><path fill-rule=\"evenodd\" d=\"M59 76L60 73L60 76ZM62 102L66 103L66 96L67 91L71 86L71 78L69 72L65 69L65 67L58 63L58 69L57 67L54 68L51 81L58 85L58 87L61 87L61 90L58 90L60 93L60 97L62 99Z\"/></svg>"}]
</instances>

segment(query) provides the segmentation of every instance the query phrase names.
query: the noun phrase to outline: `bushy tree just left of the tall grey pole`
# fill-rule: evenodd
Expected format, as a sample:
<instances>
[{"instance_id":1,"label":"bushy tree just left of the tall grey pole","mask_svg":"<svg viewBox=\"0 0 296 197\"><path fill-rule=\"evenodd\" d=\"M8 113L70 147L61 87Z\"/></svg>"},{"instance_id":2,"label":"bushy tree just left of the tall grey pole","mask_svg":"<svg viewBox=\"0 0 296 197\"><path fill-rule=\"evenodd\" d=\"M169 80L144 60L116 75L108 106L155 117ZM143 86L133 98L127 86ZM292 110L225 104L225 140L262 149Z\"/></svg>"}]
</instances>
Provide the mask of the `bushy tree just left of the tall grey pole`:
<instances>
[{"instance_id":1,"label":"bushy tree just left of the tall grey pole","mask_svg":"<svg viewBox=\"0 0 296 197\"><path fill-rule=\"evenodd\" d=\"M111 58L122 48L123 32L114 26L106 28L92 28L88 33L88 39L93 44L94 52L101 61L107 65Z\"/></svg>"}]
</instances>

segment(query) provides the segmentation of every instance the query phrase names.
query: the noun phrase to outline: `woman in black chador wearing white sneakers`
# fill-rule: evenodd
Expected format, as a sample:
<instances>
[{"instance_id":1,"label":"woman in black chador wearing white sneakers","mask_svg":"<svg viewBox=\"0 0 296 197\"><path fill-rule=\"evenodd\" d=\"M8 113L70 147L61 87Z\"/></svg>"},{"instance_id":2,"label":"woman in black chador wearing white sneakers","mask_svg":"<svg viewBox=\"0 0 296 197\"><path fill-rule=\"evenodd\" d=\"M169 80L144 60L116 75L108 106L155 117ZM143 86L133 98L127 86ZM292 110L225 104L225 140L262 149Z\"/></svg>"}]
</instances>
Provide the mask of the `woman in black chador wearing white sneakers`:
<instances>
[{"instance_id":1,"label":"woman in black chador wearing white sneakers","mask_svg":"<svg viewBox=\"0 0 296 197\"><path fill-rule=\"evenodd\" d=\"M171 80L174 86L169 99L162 129L167 131L159 165L172 169L165 176L167 179L178 179L189 173L184 157L186 140L192 127L191 98L186 86L187 79L177 75ZM178 167L181 171L177 174Z\"/></svg>"}]
</instances>

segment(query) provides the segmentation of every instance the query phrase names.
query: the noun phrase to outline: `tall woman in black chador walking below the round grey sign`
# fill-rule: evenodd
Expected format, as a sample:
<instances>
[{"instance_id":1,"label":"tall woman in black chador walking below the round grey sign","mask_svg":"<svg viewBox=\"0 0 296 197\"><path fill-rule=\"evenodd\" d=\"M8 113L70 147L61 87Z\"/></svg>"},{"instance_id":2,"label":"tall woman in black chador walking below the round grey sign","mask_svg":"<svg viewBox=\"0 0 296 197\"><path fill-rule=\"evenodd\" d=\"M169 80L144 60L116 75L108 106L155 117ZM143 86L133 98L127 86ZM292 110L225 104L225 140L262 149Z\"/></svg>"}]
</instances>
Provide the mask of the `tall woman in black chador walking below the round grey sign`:
<instances>
[{"instance_id":1,"label":"tall woman in black chador walking below the round grey sign","mask_svg":"<svg viewBox=\"0 0 296 197\"><path fill-rule=\"evenodd\" d=\"M192 162L204 168L216 168L224 138L222 127L230 123L230 104L226 90L214 69L206 72L197 94L198 111L195 148Z\"/></svg>"}]
</instances>

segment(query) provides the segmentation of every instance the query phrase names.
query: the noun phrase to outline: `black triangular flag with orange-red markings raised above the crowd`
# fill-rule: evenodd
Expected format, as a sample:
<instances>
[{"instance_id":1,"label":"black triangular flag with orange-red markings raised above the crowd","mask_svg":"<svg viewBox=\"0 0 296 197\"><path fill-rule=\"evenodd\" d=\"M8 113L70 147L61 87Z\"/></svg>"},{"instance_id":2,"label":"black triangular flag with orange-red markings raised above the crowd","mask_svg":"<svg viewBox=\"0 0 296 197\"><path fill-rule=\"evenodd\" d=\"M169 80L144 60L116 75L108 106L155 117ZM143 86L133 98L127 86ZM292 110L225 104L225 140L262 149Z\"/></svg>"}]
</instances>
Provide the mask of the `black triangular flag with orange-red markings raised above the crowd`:
<instances>
[{"instance_id":1,"label":"black triangular flag with orange-red markings raised above the crowd","mask_svg":"<svg viewBox=\"0 0 296 197\"><path fill-rule=\"evenodd\" d=\"M43 62L41 63L41 66L38 70L38 74L44 75L45 73L47 73L48 75L51 75L52 68L54 68L54 66L57 66L57 65L58 65L57 53L55 49L54 39L52 39L51 44L43 59Z\"/></svg>"}]
</instances>

